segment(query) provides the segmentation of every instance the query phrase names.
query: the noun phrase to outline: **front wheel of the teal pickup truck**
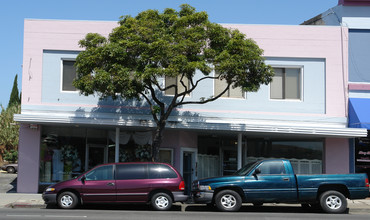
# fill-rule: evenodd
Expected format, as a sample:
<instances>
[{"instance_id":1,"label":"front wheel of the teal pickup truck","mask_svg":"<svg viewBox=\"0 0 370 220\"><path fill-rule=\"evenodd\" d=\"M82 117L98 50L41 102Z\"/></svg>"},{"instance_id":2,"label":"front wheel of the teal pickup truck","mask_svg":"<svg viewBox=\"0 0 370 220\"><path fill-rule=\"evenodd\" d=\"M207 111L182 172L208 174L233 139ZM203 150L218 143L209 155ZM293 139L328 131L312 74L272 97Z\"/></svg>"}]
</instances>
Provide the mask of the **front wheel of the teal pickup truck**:
<instances>
[{"instance_id":1,"label":"front wheel of the teal pickup truck","mask_svg":"<svg viewBox=\"0 0 370 220\"><path fill-rule=\"evenodd\" d=\"M233 190L222 190L216 194L215 203L220 211L236 212L242 206L242 199L240 195Z\"/></svg>"}]
</instances>

